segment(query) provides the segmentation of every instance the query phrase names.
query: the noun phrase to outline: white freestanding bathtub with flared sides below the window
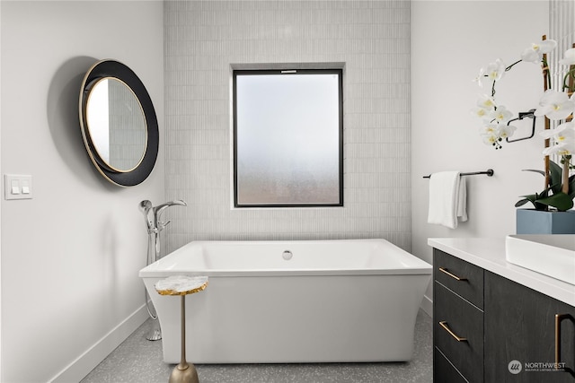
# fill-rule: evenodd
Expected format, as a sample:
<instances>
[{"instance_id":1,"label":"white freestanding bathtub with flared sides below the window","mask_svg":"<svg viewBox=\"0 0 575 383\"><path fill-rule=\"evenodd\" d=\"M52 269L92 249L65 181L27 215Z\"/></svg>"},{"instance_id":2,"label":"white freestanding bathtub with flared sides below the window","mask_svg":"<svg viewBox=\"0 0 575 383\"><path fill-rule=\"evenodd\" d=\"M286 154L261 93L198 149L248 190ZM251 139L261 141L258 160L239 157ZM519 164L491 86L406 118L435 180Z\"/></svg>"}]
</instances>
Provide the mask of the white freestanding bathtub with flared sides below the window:
<instances>
[{"instance_id":1,"label":"white freestanding bathtub with flared sides below the window","mask_svg":"<svg viewBox=\"0 0 575 383\"><path fill-rule=\"evenodd\" d=\"M209 277L186 297L193 363L409 361L431 270L384 239L195 241L139 276L168 363L180 361L180 298L154 284L178 274Z\"/></svg>"}]
</instances>

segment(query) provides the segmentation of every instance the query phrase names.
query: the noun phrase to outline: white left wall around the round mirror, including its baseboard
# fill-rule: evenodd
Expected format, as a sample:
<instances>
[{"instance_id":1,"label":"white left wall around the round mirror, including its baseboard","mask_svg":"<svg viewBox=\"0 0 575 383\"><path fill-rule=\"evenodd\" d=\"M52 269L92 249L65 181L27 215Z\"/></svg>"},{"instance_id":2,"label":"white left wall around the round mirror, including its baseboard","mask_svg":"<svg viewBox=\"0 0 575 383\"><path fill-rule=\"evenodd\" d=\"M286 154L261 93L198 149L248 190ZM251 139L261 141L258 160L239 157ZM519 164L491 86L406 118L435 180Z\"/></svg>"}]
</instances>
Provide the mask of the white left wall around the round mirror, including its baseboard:
<instances>
[{"instance_id":1,"label":"white left wall around the round mirror, including its baseboard","mask_svg":"<svg viewBox=\"0 0 575 383\"><path fill-rule=\"evenodd\" d=\"M30 174L34 195L1 203L0 380L78 381L146 318L137 205L164 199L164 143L138 187L112 186L93 169L78 124L79 86L97 59L130 66L155 103L163 140L163 3L0 6L2 174Z\"/></svg>"}]
</instances>

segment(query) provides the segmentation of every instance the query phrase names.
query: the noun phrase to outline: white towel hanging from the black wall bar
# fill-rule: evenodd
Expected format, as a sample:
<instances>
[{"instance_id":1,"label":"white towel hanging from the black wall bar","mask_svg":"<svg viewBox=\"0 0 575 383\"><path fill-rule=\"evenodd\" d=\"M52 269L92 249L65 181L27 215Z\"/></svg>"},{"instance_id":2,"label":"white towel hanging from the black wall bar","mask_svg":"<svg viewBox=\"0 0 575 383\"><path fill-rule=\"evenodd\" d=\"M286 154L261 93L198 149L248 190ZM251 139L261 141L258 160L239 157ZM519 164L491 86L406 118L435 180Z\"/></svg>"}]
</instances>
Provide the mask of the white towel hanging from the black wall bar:
<instances>
[{"instance_id":1,"label":"white towel hanging from the black wall bar","mask_svg":"<svg viewBox=\"0 0 575 383\"><path fill-rule=\"evenodd\" d=\"M467 221L465 178L459 171L441 171L429 178L428 222L456 229Z\"/></svg>"}]
</instances>

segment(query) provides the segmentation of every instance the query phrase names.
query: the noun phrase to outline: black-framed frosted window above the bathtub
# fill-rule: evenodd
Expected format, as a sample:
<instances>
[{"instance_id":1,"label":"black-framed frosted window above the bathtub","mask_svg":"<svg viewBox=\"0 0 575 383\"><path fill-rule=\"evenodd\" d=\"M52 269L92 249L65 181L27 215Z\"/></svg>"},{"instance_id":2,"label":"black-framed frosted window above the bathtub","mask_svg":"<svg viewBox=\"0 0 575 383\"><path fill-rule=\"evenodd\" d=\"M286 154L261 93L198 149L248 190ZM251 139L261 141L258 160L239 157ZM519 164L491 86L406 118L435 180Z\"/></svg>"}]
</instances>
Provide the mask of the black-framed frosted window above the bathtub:
<instances>
[{"instance_id":1,"label":"black-framed frosted window above the bathtub","mask_svg":"<svg viewBox=\"0 0 575 383\"><path fill-rule=\"evenodd\" d=\"M343 205L342 71L234 71L234 205Z\"/></svg>"}]
</instances>

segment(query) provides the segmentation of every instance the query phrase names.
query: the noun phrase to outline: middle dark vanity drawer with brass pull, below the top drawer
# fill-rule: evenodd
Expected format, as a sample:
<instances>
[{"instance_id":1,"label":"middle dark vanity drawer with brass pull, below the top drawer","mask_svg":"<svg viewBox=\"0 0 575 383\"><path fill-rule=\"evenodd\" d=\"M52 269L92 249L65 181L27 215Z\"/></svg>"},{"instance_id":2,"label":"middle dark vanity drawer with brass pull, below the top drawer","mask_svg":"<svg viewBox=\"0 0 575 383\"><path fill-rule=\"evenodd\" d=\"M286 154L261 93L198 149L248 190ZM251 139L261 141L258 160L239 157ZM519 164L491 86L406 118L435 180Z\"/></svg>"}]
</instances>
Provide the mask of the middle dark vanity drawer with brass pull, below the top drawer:
<instances>
[{"instance_id":1,"label":"middle dark vanity drawer with brass pull, below the top drawer","mask_svg":"<svg viewBox=\"0 0 575 383\"><path fill-rule=\"evenodd\" d=\"M469 382L483 381L483 312L437 281L433 341ZM459 339L457 339L459 337Z\"/></svg>"}]
</instances>

